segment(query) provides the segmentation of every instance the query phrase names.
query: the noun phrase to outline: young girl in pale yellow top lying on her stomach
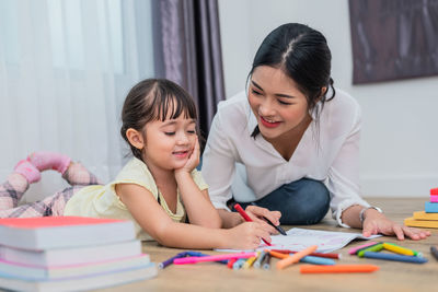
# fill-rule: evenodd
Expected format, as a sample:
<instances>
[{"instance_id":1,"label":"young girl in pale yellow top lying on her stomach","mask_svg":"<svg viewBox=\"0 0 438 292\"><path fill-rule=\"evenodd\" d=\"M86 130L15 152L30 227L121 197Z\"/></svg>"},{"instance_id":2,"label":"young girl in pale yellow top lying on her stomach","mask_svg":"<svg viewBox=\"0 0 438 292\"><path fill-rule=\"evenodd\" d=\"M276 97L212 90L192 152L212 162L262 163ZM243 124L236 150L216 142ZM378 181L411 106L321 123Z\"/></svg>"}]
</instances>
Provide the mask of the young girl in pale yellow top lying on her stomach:
<instances>
[{"instance_id":1,"label":"young girl in pale yellow top lying on her stomach","mask_svg":"<svg viewBox=\"0 0 438 292\"><path fill-rule=\"evenodd\" d=\"M122 112L120 133L134 157L113 183L97 185L92 174L67 156L37 152L20 162L1 186L0 217L126 219L135 222L140 240L181 248L246 249L257 247L261 238L269 242L274 230L264 222L220 229L221 219L195 168L199 162L196 119L195 104L182 87L168 80L141 81L129 92ZM16 207L28 184L47 168L60 172L73 187ZM275 214L267 215L279 224Z\"/></svg>"}]
</instances>

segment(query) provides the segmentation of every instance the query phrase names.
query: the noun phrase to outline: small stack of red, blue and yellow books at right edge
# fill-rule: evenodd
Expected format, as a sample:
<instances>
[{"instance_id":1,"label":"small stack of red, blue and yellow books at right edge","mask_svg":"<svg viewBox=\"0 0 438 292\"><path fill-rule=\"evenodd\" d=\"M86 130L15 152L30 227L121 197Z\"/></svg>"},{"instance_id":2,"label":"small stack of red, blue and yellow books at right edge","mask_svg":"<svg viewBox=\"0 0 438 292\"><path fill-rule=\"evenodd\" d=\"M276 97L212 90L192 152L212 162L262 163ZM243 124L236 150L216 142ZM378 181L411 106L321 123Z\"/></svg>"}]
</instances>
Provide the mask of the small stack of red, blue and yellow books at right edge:
<instances>
[{"instance_id":1,"label":"small stack of red, blue and yellow books at right edge","mask_svg":"<svg viewBox=\"0 0 438 292\"><path fill-rule=\"evenodd\" d=\"M425 210L414 212L414 217L404 220L406 226L438 229L438 188L430 189L430 199Z\"/></svg>"}]
</instances>

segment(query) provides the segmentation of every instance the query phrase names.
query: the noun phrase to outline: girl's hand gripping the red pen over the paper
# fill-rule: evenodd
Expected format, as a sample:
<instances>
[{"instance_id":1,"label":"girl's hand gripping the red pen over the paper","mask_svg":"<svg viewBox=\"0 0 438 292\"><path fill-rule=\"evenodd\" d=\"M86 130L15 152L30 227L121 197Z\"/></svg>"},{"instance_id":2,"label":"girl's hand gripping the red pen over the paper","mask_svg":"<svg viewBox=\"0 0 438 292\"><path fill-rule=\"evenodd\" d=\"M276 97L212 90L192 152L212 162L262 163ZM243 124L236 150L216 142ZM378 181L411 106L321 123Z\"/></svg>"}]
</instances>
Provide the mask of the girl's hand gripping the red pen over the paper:
<instances>
[{"instance_id":1,"label":"girl's hand gripping the red pen over the paper","mask_svg":"<svg viewBox=\"0 0 438 292\"><path fill-rule=\"evenodd\" d=\"M258 222L244 222L228 231L227 248L255 249L262 238L270 243L269 233Z\"/></svg>"}]
</instances>

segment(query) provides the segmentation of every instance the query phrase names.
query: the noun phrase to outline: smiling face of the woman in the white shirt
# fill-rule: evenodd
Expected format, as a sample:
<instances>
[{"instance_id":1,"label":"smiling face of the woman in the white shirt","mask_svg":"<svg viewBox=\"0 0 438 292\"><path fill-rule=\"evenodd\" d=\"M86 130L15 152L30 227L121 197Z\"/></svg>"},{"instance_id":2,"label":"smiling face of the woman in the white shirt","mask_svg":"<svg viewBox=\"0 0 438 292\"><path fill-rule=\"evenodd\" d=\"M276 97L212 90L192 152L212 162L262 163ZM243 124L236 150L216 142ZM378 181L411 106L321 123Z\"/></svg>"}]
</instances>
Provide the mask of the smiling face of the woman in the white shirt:
<instances>
[{"instance_id":1,"label":"smiling face of the woman in the white shirt","mask_svg":"<svg viewBox=\"0 0 438 292\"><path fill-rule=\"evenodd\" d=\"M260 131L267 141L293 135L311 120L304 94L280 69L268 66L255 68L247 100Z\"/></svg>"}]
</instances>

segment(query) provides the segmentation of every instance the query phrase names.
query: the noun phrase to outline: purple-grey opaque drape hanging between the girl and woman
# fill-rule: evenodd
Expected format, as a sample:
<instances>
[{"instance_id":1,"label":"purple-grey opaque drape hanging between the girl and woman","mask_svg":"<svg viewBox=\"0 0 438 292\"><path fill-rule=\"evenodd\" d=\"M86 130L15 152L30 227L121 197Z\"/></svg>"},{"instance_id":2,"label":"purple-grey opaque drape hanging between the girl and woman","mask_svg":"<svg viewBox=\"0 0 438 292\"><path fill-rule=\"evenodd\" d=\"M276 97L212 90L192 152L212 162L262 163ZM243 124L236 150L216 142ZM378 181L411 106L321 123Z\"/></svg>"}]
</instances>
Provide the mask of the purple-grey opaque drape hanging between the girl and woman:
<instances>
[{"instance_id":1,"label":"purple-grey opaque drape hanging between the girl and woman","mask_svg":"<svg viewBox=\"0 0 438 292\"><path fill-rule=\"evenodd\" d=\"M155 72L195 98L207 138L224 98L217 0L152 0Z\"/></svg>"}]
</instances>

